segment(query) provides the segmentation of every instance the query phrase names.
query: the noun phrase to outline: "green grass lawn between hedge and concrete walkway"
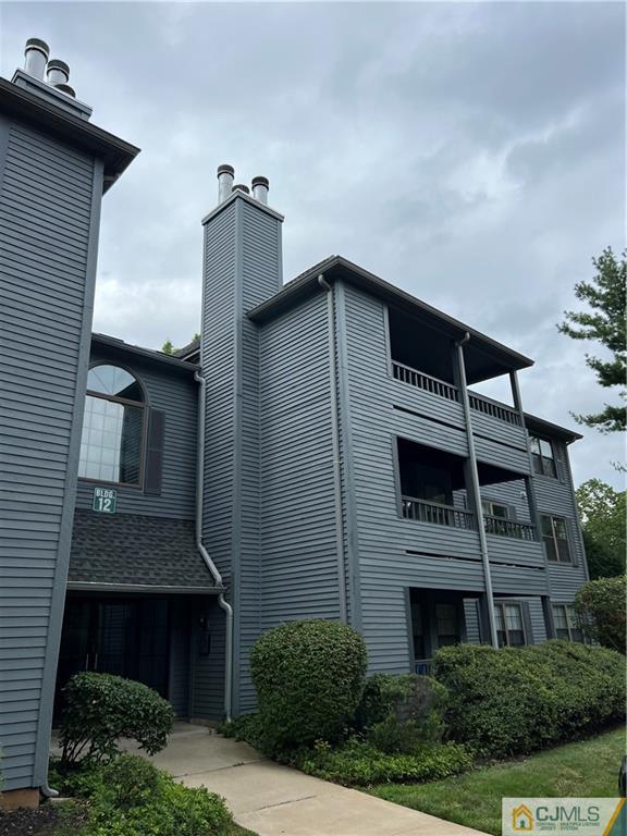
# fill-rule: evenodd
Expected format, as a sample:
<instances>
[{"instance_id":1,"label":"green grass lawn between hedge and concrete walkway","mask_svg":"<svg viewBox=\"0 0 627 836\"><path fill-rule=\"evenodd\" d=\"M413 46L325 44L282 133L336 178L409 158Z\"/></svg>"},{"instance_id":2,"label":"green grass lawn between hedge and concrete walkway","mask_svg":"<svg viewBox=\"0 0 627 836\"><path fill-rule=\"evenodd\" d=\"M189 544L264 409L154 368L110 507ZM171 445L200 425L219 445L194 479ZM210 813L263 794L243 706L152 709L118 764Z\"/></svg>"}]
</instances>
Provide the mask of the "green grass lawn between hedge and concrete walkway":
<instances>
[{"instance_id":1,"label":"green grass lawn between hedge and concrete walkway","mask_svg":"<svg viewBox=\"0 0 627 836\"><path fill-rule=\"evenodd\" d=\"M501 798L618 795L625 732L568 743L516 761L504 761L432 784L381 784L369 790L404 807L501 834Z\"/></svg>"}]
</instances>

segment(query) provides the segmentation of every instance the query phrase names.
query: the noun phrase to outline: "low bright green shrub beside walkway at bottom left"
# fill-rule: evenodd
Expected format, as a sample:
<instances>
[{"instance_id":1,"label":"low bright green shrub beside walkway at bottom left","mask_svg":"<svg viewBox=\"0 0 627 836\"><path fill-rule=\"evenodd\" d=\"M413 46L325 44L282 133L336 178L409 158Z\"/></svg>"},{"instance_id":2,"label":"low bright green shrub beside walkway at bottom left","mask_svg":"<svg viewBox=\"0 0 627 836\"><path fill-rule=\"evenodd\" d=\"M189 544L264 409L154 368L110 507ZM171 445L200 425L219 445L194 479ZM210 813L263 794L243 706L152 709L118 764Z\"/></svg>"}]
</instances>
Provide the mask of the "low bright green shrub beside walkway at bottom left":
<instances>
[{"instance_id":1,"label":"low bright green shrub beside walkway at bottom left","mask_svg":"<svg viewBox=\"0 0 627 836\"><path fill-rule=\"evenodd\" d=\"M149 761L121 754L83 762L54 776L69 795L87 799L89 836L226 836L232 815L220 796L184 787Z\"/></svg>"}]
</instances>

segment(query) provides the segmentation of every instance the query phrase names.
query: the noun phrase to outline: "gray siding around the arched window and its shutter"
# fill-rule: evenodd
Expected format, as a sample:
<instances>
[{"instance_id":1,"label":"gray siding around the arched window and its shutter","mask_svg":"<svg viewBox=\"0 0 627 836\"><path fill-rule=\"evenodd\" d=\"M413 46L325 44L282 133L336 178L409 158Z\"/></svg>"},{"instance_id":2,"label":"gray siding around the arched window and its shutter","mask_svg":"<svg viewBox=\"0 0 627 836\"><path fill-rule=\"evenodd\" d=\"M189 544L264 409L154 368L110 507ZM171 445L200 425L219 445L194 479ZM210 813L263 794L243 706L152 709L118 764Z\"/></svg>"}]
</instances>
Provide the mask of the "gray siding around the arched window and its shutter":
<instances>
[{"instance_id":1,"label":"gray siding around the arched window and its shutter","mask_svg":"<svg viewBox=\"0 0 627 836\"><path fill-rule=\"evenodd\" d=\"M116 485L118 513L193 519L198 417L198 384L193 373L184 377L170 371L164 364L157 366L136 356L124 357L119 349L91 351L90 364L100 362L122 365L135 374L144 385L148 407L165 415L161 493L150 495L140 488ZM78 480L76 507L91 507L94 487L89 480Z\"/></svg>"}]
</instances>

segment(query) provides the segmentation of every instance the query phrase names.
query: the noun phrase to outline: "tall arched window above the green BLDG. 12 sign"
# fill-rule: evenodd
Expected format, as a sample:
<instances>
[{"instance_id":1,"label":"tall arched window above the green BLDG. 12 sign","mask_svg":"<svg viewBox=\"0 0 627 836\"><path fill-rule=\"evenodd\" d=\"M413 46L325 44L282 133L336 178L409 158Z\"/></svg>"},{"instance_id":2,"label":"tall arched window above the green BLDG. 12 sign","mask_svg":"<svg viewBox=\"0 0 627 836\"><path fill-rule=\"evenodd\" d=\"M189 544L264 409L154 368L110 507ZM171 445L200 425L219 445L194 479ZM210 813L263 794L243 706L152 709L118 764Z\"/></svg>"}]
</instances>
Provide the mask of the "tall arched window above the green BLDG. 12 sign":
<instances>
[{"instance_id":1,"label":"tall arched window above the green BLDG. 12 sign","mask_svg":"<svg viewBox=\"0 0 627 836\"><path fill-rule=\"evenodd\" d=\"M139 484L144 440L144 393L119 366L95 366L87 397L78 476L102 482Z\"/></svg>"}]
</instances>

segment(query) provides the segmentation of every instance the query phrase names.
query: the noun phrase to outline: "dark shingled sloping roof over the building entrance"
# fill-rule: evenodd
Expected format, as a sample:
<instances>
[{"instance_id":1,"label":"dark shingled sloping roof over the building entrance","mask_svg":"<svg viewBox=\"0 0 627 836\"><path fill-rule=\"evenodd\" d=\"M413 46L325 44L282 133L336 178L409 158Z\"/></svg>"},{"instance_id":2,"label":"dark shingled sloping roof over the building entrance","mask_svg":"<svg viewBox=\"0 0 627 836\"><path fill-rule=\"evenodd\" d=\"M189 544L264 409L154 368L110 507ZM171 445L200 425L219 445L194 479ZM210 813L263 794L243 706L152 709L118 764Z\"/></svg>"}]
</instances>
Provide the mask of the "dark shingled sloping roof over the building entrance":
<instances>
[{"instance_id":1,"label":"dark shingled sloping roof over the building entrance","mask_svg":"<svg viewBox=\"0 0 627 836\"><path fill-rule=\"evenodd\" d=\"M74 515L67 580L217 589L196 549L193 520L83 508Z\"/></svg>"}]
</instances>

